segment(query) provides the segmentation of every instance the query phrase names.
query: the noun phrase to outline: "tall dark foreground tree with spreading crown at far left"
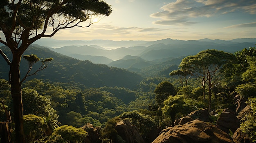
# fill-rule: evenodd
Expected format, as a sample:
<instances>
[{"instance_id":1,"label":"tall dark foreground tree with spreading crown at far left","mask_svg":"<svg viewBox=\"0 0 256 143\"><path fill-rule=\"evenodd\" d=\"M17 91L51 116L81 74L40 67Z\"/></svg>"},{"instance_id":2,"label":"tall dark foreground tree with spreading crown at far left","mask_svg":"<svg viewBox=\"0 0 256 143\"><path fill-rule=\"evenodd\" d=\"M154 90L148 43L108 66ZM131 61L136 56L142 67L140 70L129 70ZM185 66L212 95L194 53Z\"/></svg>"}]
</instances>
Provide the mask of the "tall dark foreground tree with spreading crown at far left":
<instances>
[{"instance_id":1,"label":"tall dark foreground tree with spreading crown at far left","mask_svg":"<svg viewBox=\"0 0 256 143\"><path fill-rule=\"evenodd\" d=\"M9 47L12 57L1 49L0 54L10 66L16 142L24 142L19 70L22 54L42 37L52 37L61 29L89 27L93 16L109 16L111 12L102 0L1 0L0 32L4 37L0 37L0 42ZM86 20L91 21L83 26Z\"/></svg>"}]
</instances>

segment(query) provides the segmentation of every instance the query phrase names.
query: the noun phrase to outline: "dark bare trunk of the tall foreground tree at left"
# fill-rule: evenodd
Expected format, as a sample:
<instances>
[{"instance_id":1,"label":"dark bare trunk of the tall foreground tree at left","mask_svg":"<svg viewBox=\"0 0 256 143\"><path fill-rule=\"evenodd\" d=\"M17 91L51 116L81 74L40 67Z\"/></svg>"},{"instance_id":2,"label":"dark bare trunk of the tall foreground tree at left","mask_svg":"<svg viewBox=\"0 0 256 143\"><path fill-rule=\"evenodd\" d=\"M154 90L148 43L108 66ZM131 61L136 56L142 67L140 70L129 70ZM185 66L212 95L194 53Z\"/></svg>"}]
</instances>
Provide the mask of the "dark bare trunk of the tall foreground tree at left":
<instances>
[{"instance_id":1,"label":"dark bare trunk of the tall foreground tree at left","mask_svg":"<svg viewBox=\"0 0 256 143\"><path fill-rule=\"evenodd\" d=\"M10 65L11 96L13 100L13 117L15 123L16 143L24 143L23 131L23 108L22 108L22 91L20 85L20 59L19 52L13 52L13 59Z\"/></svg>"}]
</instances>

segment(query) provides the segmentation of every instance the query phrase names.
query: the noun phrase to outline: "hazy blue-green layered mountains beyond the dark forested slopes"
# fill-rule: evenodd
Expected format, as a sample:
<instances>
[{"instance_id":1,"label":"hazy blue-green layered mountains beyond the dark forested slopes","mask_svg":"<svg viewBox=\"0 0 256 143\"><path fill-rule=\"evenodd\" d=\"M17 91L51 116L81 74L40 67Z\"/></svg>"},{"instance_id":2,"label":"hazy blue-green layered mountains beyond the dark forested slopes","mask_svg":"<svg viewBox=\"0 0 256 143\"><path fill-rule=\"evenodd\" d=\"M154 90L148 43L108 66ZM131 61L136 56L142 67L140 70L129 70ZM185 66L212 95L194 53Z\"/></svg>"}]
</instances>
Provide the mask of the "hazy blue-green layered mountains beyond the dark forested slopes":
<instances>
[{"instance_id":1,"label":"hazy blue-green layered mountains beyond the dark forested slopes","mask_svg":"<svg viewBox=\"0 0 256 143\"><path fill-rule=\"evenodd\" d=\"M50 47L52 51L95 64L107 64L133 71L166 62L173 58L195 55L206 49L217 49L229 53L243 48L255 47L256 38L234 40L173 40L157 41L111 41L111 40L53 40L41 39L35 44ZM62 46L64 45L65 46ZM119 46L119 47L118 47ZM53 48L59 47L59 48ZM110 49L110 47L114 47ZM128 58L128 57L129 58Z\"/></svg>"}]
</instances>

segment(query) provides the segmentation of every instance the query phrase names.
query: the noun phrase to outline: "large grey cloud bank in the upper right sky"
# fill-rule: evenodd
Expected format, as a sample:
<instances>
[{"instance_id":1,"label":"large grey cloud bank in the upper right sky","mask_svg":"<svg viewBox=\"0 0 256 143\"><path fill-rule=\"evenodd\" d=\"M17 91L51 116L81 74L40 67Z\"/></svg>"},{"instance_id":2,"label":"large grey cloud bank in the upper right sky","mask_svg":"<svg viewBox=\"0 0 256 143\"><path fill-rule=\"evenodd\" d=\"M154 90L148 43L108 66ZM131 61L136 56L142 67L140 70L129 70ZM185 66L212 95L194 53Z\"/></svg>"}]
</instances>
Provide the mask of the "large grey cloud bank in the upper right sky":
<instances>
[{"instance_id":1,"label":"large grey cloud bank in the upper right sky","mask_svg":"<svg viewBox=\"0 0 256 143\"><path fill-rule=\"evenodd\" d=\"M240 11L256 14L255 0L176 0L160 8L161 11L150 15L160 18L153 22L161 25L191 25L197 22L191 18L212 17Z\"/></svg>"}]
</instances>

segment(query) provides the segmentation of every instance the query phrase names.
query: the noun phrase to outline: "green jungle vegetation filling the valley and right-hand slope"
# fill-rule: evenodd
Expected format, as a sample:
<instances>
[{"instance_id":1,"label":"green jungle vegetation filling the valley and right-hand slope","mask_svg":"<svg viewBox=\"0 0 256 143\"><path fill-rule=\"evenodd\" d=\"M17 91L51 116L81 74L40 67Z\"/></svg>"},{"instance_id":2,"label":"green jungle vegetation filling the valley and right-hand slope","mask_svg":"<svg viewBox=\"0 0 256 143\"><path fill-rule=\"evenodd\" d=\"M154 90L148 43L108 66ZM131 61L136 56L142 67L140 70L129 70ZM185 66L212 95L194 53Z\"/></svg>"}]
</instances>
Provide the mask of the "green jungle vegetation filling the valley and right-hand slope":
<instances>
[{"instance_id":1,"label":"green jungle vegetation filling the valley and right-hand slope","mask_svg":"<svg viewBox=\"0 0 256 143\"><path fill-rule=\"evenodd\" d=\"M220 57L216 57L216 53ZM227 60L223 56L228 57ZM208 60L208 57L211 60ZM221 62L216 63L217 59ZM54 60L57 61L58 57L54 57ZM70 59L70 61L62 61L62 65L56 65L53 61L48 66L54 66L59 72L63 72L63 68L67 68L63 65L67 65L65 63L70 61L75 61L74 65L76 62L89 63L86 68L81 69L84 72L93 68L101 69L102 66L105 67L106 73L110 69L116 72L121 71L106 65L92 64L89 61ZM179 72L169 71L169 77L158 75L142 78L129 71L120 72L121 77L127 76L125 74L128 73L141 78L138 84L134 83L136 85L126 87L86 85L79 81L70 81L68 78L56 81L51 79L52 77L54 79L54 75L49 77L44 75L44 72L47 73L46 69L41 75L37 75L38 78L26 80L21 86L25 139L29 143L79 142L87 136L87 132L81 131L81 127L86 123L92 123L94 127L104 131L101 134L101 140L107 143L110 139L117 139L114 124L125 118L134 123L146 139L148 131L152 128L163 129L171 126L175 119L186 116L194 110L203 108L208 108L210 111L224 108L235 110L236 94L248 99L248 103L255 110L255 63L255 48L245 48L236 53L207 50L195 56L185 57L179 65ZM58 68L59 66L62 69ZM80 70L75 66L72 67L72 70L79 73ZM190 78L188 78L188 70L191 74ZM101 72L104 71L101 70ZM113 70L109 73L111 72ZM214 75L211 74L213 72ZM66 77L72 76L67 74L70 72L66 73ZM94 74L94 72L88 74ZM111 76L108 78L113 80ZM182 78L186 80L181 80ZM214 80L209 82L210 79ZM202 84L204 82L207 86ZM5 110L10 111L13 117L11 86L6 79L0 79L0 87L1 103L4 105L4 108L0 108L0 121L6 121ZM248 120L241 123L241 127L255 140L255 128L249 128L255 122L254 117L253 113L249 114ZM67 139L63 136L65 132L72 132L74 136Z\"/></svg>"}]
</instances>

